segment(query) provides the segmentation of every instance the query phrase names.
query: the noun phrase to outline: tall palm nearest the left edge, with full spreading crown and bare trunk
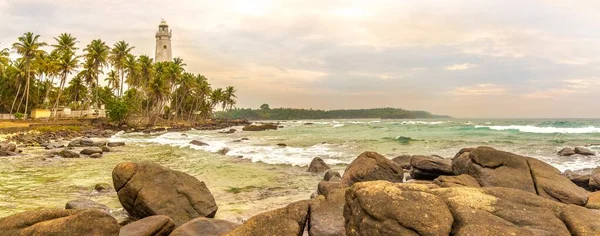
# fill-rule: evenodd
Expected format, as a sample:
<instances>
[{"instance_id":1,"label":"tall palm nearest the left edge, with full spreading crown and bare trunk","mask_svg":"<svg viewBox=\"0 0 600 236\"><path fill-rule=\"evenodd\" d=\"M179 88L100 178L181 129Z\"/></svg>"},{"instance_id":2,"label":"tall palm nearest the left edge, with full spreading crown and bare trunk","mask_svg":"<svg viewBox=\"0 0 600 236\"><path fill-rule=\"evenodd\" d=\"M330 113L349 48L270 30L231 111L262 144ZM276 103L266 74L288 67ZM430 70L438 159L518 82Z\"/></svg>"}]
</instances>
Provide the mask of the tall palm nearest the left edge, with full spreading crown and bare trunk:
<instances>
[{"instance_id":1,"label":"tall palm nearest the left edge, with full spreading crown and bare trunk","mask_svg":"<svg viewBox=\"0 0 600 236\"><path fill-rule=\"evenodd\" d=\"M17 53L21 54L24 59L25 66L27 67L27 80L25 82L25 113L23 119L27 118L27 108L29 105L29 84L31 79L31 62L37 55L41 54L43 51L41 47L46 46L47 44L44 42L39 42L40 35L34 35L32 32L27 32L23 36L18 38L18 42L12 45L13 49L17 51ZM16 96L19 94L17 93ZM12 111L11 111L12 112Z\"/></svg>"}]
</instances>

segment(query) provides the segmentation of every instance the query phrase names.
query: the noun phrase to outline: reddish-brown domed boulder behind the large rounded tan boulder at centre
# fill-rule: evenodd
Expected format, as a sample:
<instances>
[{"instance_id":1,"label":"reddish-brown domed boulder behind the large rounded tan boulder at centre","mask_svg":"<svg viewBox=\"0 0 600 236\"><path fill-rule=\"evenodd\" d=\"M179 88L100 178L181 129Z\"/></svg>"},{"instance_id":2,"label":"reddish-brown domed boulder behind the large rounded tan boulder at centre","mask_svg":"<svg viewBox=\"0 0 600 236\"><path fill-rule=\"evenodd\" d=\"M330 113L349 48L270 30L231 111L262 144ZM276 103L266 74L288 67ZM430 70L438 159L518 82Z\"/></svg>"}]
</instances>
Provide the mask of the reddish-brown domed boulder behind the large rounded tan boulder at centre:
<instances>
[{"instance_id":1,"label":"reddish-brown domed boulder behind the large rounded tan boulder at centre","mask_svg":"<svg viewBox=\"0 0 600 236\"><path fill-rule=\"evenodd\" d=\"M402 182L403 177L404 172L396 162L376 152L363 152L346 167L341 186L349 187L356 182L374 180Z\"/></svg>"}]
</instances>

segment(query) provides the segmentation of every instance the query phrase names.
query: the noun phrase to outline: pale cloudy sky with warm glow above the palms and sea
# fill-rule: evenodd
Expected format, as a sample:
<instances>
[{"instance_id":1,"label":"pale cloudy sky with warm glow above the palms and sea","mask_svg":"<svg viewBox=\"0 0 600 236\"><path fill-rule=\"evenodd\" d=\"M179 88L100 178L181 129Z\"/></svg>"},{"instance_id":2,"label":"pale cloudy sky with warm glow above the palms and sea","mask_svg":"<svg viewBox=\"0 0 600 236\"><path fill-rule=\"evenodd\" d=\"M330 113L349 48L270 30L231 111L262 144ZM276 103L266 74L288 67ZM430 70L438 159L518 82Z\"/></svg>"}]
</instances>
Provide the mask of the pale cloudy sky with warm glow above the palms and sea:
<instances>
[{"instance_id":1,"label":"pale cloudy sky with warm glow above the palms and sea","mask_svg":"<svg viewBox=\"0 0 600 236\"><path fill-rule=\"evenodd\" d=\"M468 118L600 117L600 1L0 0L0 48L27 31L173 56L237 107L397 107Z\"/></svg>"}]
</instances>

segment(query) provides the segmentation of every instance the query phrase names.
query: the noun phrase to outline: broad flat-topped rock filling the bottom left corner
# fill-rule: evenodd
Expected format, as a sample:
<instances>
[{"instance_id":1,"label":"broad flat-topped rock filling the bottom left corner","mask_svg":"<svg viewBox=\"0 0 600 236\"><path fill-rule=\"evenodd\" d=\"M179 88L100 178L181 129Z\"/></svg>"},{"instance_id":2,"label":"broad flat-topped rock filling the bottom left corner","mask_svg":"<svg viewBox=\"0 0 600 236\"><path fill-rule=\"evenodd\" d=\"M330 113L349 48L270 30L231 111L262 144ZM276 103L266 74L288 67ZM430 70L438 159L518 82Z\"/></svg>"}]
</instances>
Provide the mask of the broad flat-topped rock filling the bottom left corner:
<instances>
[{"instance_id":1,"label":"broad flat-topped rock filling the bottom left corner","mask_svg":"<svg viewBox=\"0 0 600 236\"><path fill-rule=\"evenodd\" d=\"M0 219L2 235L115 236L119 224L100 210L39 210Z\"/></svg>"}]
</instances>

